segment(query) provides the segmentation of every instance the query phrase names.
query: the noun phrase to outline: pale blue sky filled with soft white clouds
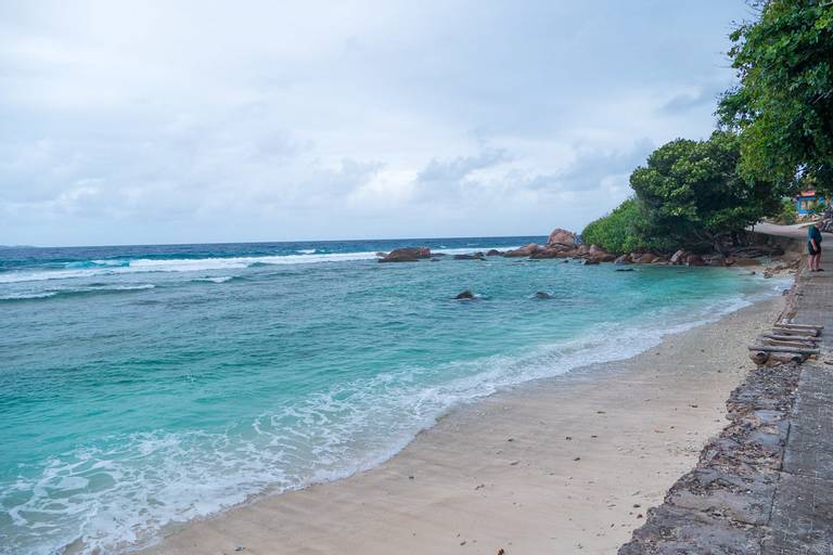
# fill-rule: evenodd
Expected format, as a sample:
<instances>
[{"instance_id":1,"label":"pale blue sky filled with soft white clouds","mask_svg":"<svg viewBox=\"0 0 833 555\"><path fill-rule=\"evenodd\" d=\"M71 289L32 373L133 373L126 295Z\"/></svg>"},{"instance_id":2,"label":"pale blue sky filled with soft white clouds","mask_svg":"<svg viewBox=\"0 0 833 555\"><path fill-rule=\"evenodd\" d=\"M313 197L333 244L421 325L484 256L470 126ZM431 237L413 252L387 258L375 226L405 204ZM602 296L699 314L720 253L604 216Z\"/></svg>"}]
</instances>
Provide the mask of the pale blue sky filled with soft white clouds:
<instances>
[{"instance_id":1,"label":"pale blue sky filled with soft white clouds","mask_svg":"<svg viewBox=\"0 0 833 555\"><path fill-rule=\"evenodd\" d=\"M0 244L544 235L715 126L742 0L0 0Z\"/></svg>"}]
</instances>

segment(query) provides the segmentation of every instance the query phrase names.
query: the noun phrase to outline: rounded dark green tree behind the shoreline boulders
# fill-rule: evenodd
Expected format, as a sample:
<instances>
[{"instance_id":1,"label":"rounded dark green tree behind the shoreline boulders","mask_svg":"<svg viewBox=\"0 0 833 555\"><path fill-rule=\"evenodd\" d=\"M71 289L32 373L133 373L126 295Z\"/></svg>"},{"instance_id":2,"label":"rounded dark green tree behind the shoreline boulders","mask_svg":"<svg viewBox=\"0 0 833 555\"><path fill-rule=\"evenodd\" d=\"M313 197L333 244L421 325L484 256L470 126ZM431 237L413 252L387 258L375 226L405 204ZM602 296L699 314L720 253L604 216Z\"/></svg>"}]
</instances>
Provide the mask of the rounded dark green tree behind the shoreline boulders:
<instances>
[{"instance_id":1,"label":"rounded dark green tree behind the shoreline boulders","mask_svg":"<svg viewBox=\"0 0 833 555\"><path fill-rule=\"evenodd\" d=\"M642 233L689 248L720 248L764 216L778 214L781 195L768 181L739 172L740 139L715 131L707 141L678 139L637 168L630 185L644 206Z\"/></svg>"}]
</instances>

